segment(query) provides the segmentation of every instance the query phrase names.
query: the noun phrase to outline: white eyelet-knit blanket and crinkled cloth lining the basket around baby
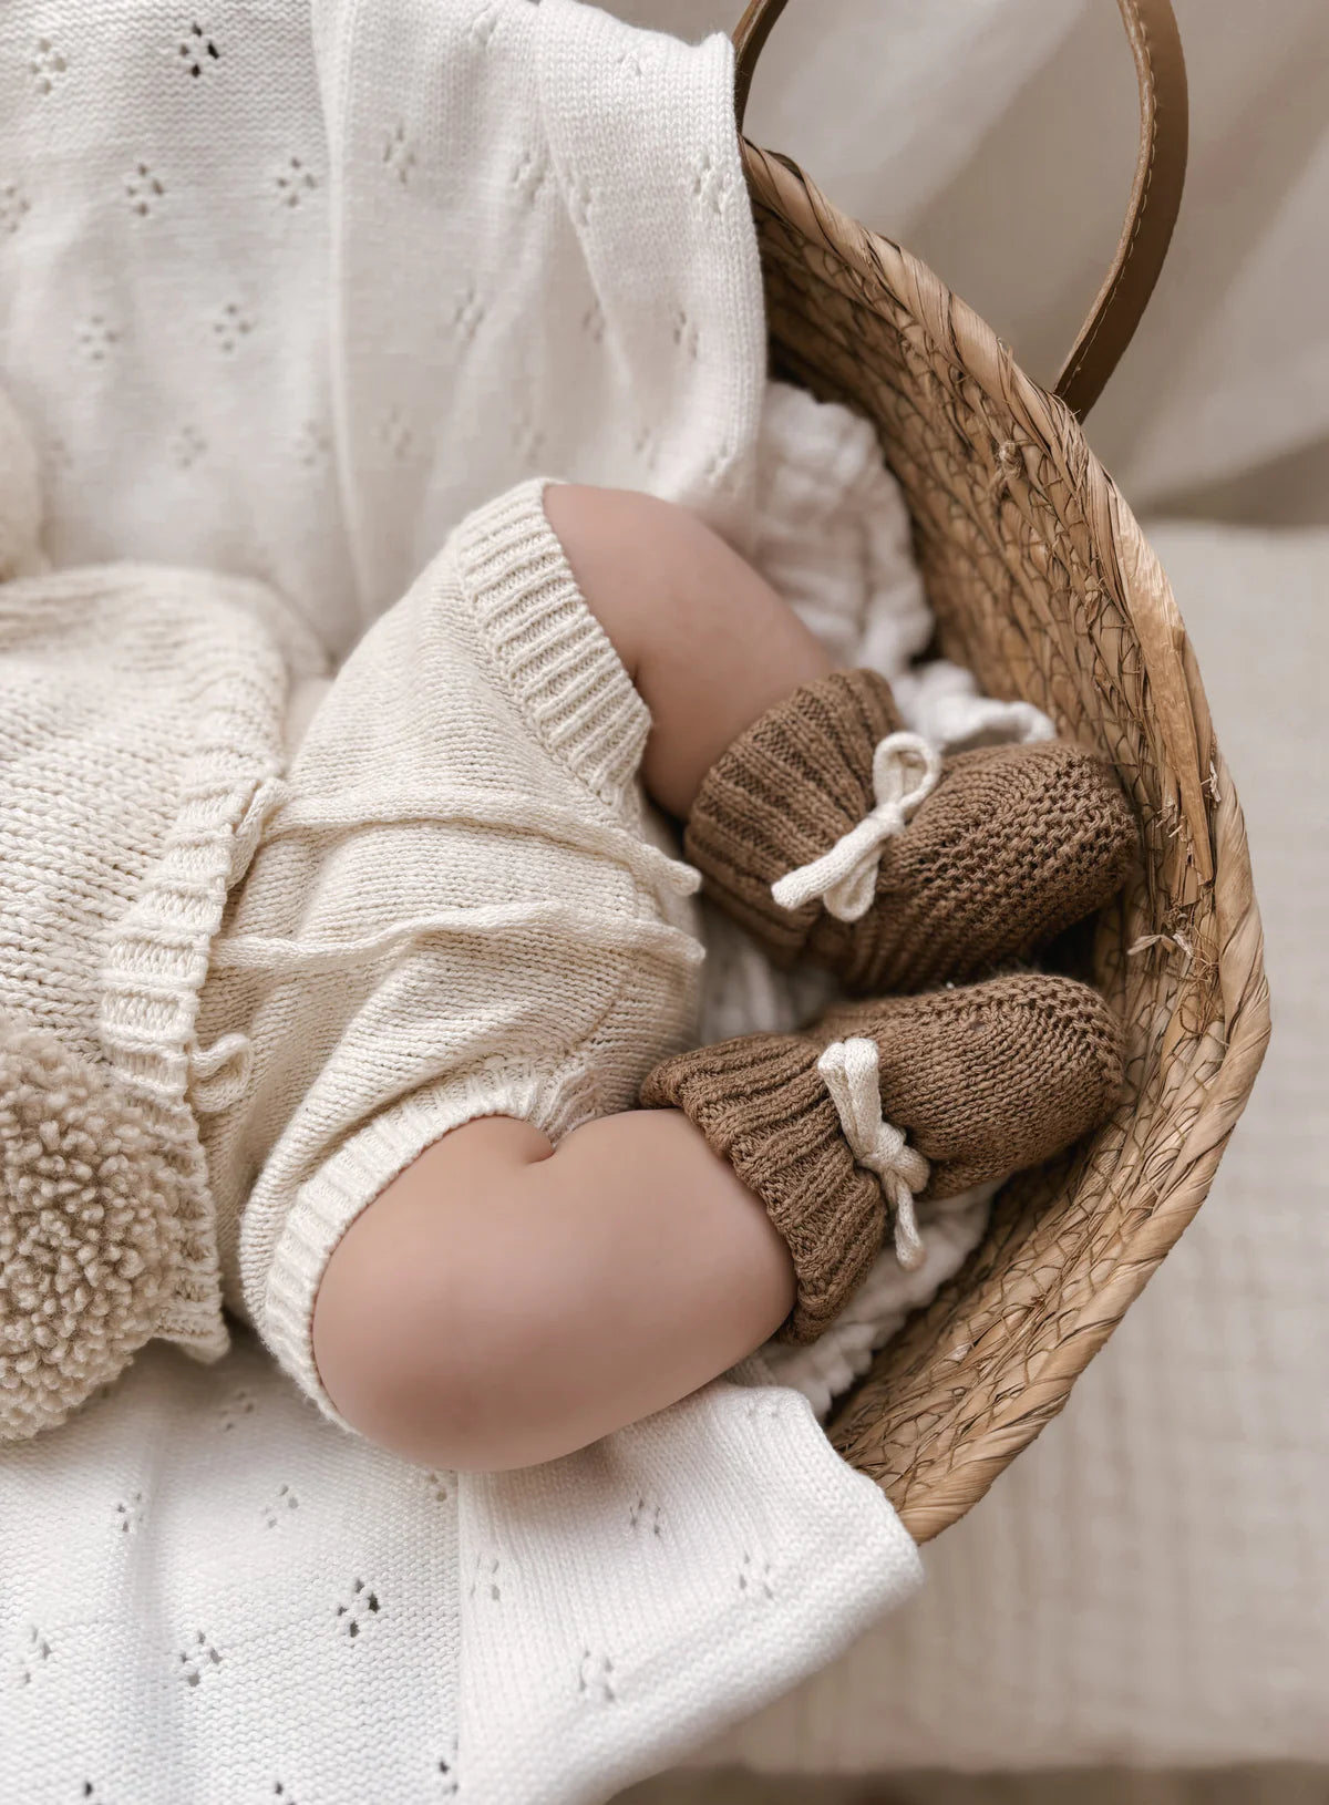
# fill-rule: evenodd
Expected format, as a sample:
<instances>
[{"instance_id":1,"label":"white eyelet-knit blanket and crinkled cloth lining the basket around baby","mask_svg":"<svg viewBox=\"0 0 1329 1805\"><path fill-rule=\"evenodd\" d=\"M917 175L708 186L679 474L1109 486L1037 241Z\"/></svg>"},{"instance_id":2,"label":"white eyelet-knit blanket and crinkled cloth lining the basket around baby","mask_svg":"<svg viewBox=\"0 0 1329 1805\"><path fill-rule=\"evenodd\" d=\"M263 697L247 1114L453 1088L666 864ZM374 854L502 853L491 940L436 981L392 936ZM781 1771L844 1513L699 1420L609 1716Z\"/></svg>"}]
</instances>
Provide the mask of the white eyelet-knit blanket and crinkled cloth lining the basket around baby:
<instances>
[{"instance_id":1,"label":"white eyelet-knit blanket and crinkled cloth lining the basket around baby","mask_svg":"<svg viewBox=\"0 0 1329 1805\"><path fill-rule=\"evenodd\" d=\"M724 40L572 0L0 14L0 379L58 563L264 574L343 653L544 467L692 502L847 659L928 634L870 433L764 379ZM1042 733L905 679L959 742ZM814 1000L711 937L713 1032ZM816 1424L982 1229L809 1350L524 1473L339 1435L238 1336L0 1462L0 1791L31 1805L603 1800L908 1596ZM773 1383L782 1379L785 1383Z\"/></svg>"}]
</instances>

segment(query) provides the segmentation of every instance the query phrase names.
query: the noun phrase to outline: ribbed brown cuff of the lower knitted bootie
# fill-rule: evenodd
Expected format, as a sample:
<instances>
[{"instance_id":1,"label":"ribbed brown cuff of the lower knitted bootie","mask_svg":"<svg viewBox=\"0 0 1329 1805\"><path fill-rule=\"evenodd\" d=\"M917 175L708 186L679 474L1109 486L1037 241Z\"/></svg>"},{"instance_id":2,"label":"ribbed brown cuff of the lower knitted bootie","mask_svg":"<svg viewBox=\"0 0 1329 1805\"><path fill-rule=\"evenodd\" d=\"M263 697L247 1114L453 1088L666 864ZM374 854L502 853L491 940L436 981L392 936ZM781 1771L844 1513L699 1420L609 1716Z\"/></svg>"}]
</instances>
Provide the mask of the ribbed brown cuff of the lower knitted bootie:
<instances>
[{"instance_id":1,"label":"ribbed brown cuff of the lower knitted bootie","mask_svg":"<svg viewBox=\"0 0 1329 1805\"><path fill-rule=\"evenodd\" d=\"M881 1251L885 1204L854 1162L796 1034L748 1034L664 1060L641 1087L646 1108L679 1108L753 1191L789 1247L798 1292L778 1341L816 1341Z\"/></svg>"}]
</instances>

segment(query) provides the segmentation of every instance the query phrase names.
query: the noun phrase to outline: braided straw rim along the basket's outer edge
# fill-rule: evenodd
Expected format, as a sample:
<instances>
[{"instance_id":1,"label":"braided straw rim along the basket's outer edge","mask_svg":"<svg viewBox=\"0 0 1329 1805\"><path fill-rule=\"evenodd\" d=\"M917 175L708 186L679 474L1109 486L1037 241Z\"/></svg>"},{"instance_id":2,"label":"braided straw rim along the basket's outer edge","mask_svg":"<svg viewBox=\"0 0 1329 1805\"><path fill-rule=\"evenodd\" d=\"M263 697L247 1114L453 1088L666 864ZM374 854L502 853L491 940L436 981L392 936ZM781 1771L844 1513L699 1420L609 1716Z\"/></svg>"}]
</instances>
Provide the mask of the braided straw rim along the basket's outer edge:
<instances>
[{"instance_id":1,"label":"braided straw rim along the basket's outer edge","mask_svg":"<svg viewBox=\"0 0 1329 1805\"><path fill-rule=\"evenodd\" d=\"M906 301L939 352L953 357L980 386L999 395L1060 460L1065 482L1083 491L1098 543L1116 561L1114 574L1138 635L1166 771L1176 783L1194 879L1201 890L1210 890L1217 926L1222 1063L1170 1171L1154 1180L1161 1200L1139 1218L1132 1233L1123 1235L1114 1269L1096 1285L1073 1327L1044 1359L1036 1381L999 1408L980 1433L961 1440L953 1464L923 1496L912 1496L905 1489L894 1500L905 1527L915 1540L926 1541L957 1522L1064 1408L1078 1375L1204 1200L1269 1040L1264 937L1241 805L1213 736L1208 700L1176 597L1134 513L1087 448L1071 410L1026 375L982 316L952 294L926 264L841 213L791 159L764 152L748 139L742 139L742 157L757 204L789 220L818 253L825 253L841 269L867 283L885 282ZM1212 774L1208 798L1199 776L1203 771ZM957 1280L962 1276L957 1274ZM854 1392L838 1401L827 1424L832 1442L836 1422L852 1395Z\"/></svg>"}]
</instances>

